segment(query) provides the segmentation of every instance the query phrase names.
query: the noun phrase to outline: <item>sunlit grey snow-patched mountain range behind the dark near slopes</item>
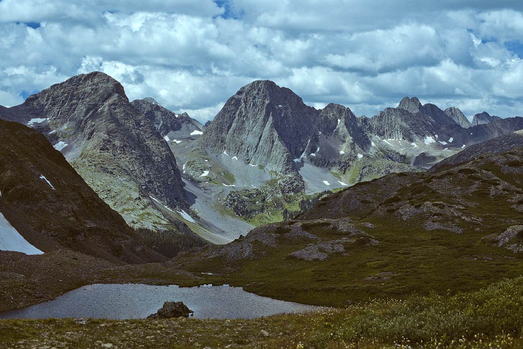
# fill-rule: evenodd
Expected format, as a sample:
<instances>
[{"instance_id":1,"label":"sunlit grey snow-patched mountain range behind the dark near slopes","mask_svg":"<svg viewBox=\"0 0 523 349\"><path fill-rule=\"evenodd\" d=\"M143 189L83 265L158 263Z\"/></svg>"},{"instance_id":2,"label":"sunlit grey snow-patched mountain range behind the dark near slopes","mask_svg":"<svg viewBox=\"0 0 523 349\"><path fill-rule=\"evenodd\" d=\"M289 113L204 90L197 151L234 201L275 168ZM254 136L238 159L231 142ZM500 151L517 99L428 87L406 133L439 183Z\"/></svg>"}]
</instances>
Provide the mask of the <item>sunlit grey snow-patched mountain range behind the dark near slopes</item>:
<instances>
[{"instance_id":1,"label":"sunlit grey snow-patched mountain range behind the dark near slopes","mask_svg":"<svg viewBox=\"0 0 523 349\"><path fill-rule=\"evenodd\" d=\"M110 76L74 76L0 119L42 133L134 228L226 243L319 193L392 172L424 171L472 144L523 129L486 112L472 123L403 98L373 117L339 104L315 109L289 88L255 81L202 126L152 98L127 98Z\"/></svg>"}]
</instances>

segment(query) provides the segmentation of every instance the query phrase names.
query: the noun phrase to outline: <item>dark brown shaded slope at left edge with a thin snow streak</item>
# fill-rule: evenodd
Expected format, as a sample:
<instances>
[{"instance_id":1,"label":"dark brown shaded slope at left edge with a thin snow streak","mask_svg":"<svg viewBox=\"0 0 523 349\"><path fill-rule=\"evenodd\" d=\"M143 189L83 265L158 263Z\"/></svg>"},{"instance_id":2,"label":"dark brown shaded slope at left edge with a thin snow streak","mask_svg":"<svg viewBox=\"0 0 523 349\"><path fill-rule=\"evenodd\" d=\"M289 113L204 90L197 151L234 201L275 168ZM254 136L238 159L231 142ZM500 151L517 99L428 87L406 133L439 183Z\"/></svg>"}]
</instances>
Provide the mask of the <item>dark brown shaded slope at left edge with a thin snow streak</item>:
<instances>
[{"instance_id":1,"label":"dark brown shaded slope at left edge with a thin snow streak","mask_svg":"<svg viewBox=\"0 0 523 349\"><path fill-rule=\"evenodd\" d=\"M69 249L116 263L162 261L41 134L0 120L0 212L44 252Z\"/></svg>"}]
</instances>

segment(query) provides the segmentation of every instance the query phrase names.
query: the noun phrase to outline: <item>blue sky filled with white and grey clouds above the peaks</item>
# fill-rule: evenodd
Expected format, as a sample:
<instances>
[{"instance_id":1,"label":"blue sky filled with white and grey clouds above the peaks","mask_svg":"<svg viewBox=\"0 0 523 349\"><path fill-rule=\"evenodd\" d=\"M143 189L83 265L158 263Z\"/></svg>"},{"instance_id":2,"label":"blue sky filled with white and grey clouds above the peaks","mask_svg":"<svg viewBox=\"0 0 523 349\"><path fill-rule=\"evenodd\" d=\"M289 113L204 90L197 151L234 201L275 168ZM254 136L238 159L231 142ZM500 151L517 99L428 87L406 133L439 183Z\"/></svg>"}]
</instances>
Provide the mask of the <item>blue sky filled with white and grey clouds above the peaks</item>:
<instances>
[{"instance_id":1,"label":"blue sky filled with white and grey clouds above the peaks","mask_svg":"<svg viewBox=\"0 0 523 349\"><path fill-rule=\"evenodd\" d=\"M254 80L372 116L404 96L523 116L523 2L0 0L0 105L103 71L211 120Z\"/></svg>"}]
</instances>

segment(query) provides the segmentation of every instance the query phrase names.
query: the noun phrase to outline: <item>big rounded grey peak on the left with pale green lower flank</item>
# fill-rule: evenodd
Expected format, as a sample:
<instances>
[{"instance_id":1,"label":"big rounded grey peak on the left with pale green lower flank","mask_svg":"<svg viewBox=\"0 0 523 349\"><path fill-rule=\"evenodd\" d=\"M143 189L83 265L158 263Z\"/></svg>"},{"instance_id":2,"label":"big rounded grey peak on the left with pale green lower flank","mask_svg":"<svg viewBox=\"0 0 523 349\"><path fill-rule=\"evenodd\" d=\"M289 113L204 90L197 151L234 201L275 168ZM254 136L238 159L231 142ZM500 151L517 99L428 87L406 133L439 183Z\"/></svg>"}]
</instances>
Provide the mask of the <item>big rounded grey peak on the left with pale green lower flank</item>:
<instances>
[{"instance_id":1,"label":"big rounded grey peak on the left with pale green lower flank","mask_svg":"<svg viewBox=\"0 0 523 349\"><path fill-rule=\"evenodd\" d=\"M167 223L150 197L172 208L188 206L173 153L112 77L74 76L8 110L5 115L43 132L129 223ZM3 112L0 118L6 118Z\"/></svg>"}]
</instances>

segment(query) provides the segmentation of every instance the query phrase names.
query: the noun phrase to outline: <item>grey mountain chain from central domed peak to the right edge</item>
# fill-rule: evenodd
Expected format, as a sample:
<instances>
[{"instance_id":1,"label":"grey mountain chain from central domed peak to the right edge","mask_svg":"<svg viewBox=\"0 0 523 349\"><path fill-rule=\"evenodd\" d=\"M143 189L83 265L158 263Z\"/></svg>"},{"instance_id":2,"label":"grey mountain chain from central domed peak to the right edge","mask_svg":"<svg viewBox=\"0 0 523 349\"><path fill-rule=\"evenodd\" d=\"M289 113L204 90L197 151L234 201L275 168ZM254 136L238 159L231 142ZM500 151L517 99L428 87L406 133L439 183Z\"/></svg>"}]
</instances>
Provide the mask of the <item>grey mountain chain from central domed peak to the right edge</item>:
<instances>
[{"instance_id":1,"label":"grey mountain chain from central domed peak to the right edge","mask_svg":"<svg viewBox=\"0 0 523 349\"><path fill-rule=\"evenodd\" d=\"M263 166L260 171L281 176L277 183L285 178L292 184L287 193L320 192L427 166L467 145L521 129L523 118L487 125L469 129L459 109L422 105L416 97L405 97L396 108L371 118L357 118L344 106L316 110L288 88L255 81L229 98L197 148L217 156L220 167L235 177L253 172L248 165ZM260 185L250 180L248 185Z\"/></svg>"}]
</instances>

